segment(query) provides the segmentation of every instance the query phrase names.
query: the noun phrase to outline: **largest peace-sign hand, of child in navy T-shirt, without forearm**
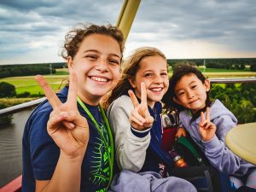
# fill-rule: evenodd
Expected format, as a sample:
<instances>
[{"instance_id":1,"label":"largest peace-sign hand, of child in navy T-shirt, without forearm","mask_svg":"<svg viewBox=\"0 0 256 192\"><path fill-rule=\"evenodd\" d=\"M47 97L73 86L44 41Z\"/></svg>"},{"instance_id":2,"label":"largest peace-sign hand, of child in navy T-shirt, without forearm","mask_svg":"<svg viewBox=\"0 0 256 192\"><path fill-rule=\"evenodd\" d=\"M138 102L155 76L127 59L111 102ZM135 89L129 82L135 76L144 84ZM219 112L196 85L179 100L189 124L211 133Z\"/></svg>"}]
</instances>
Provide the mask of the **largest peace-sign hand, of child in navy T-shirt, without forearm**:
<instances>
[{"instance_id":1,"label":"largest peace-sign hand, of child in navy T-shirt, without forearm","mask_svg":"<svg viewBox=\"0 0 256 192\"><path fill-rule=\"evenodd\" d=\"M70 71L70 84L67 102L61 103L47 81L40 75L36 76L38 84L43 88L53 111L49 115L47 131L56 145L70 157L84 157L89 141L87 120L79 113L77 107L78 82L77 76Z\"/></svg>"}]
</instances>

